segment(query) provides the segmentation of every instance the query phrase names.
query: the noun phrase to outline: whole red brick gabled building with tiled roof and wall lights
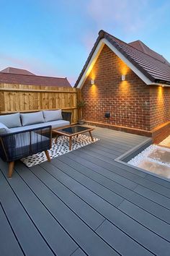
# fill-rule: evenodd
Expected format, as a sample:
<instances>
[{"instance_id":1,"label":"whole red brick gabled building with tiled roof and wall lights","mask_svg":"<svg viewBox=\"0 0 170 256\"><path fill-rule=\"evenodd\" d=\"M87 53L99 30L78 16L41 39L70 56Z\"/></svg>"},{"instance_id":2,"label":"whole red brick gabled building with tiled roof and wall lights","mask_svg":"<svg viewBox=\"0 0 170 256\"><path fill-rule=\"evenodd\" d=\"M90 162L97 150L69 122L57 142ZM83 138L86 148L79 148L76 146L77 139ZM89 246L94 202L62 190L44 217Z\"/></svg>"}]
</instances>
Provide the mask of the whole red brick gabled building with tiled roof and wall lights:
<instances>
[{"instance_id":1,"label":"whole red brick gabled building with tiled roof and wall lights","mask_svg":"<svg viewBox=\"0 0 170 256\"><path fill-rule=\"evenodd\" d=\"M154 138L170 132L170 64L140 40L100 30L75 87L89 124Z\"/></svg>"}]
</instances>

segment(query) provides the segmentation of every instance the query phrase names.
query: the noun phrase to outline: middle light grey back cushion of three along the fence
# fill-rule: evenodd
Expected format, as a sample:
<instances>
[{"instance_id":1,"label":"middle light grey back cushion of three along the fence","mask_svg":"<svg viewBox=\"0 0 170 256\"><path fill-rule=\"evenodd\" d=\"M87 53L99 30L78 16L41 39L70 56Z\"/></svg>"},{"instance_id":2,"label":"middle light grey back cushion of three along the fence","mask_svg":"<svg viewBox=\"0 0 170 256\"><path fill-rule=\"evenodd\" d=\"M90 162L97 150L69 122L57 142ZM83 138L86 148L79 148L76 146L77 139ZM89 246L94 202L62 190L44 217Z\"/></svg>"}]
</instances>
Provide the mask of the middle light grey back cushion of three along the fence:
<instances>
[{"instance_id":1,"label":"middle light grey back cushion of three along the fence","mask_svg":"<svg viewBox=\"0 0 170 256\"><path fill-rule=\"evenodd\" d=\"M22 120L23 127L30 124L40 124L45 122L42 111L35 112L35 113L21 114L21 120Z\"/></svg>"}]
</instances>

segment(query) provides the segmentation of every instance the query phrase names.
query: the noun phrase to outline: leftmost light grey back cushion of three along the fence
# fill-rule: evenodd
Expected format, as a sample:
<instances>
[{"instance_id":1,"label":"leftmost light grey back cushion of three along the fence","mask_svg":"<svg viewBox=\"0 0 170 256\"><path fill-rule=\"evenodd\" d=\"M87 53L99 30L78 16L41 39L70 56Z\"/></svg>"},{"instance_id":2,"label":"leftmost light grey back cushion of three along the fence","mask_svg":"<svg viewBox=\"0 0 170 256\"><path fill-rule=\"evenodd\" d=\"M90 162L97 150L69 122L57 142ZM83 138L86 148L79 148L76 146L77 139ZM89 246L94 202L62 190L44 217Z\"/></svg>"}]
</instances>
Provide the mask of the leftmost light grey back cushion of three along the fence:
<instances>
[{"instance_id":1,"label":"leftmost light grey back cushion of three along the fence","mask_svg":"<svg viewBox=\"0 0 170 256\"><path fill-rule=\"evenodd\" d=\"M8 128L22 126L19 113L0 116L0 122Z\"/></svg>"}]
</instances>

